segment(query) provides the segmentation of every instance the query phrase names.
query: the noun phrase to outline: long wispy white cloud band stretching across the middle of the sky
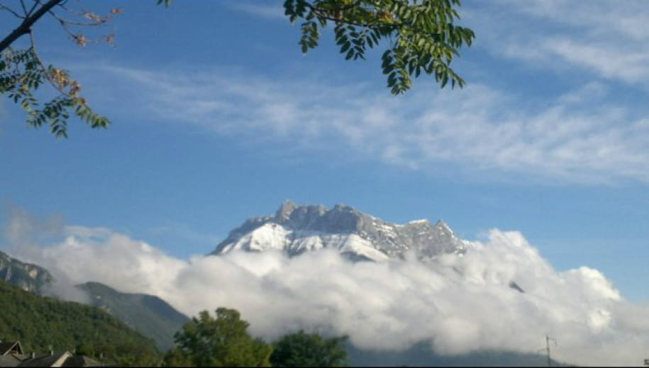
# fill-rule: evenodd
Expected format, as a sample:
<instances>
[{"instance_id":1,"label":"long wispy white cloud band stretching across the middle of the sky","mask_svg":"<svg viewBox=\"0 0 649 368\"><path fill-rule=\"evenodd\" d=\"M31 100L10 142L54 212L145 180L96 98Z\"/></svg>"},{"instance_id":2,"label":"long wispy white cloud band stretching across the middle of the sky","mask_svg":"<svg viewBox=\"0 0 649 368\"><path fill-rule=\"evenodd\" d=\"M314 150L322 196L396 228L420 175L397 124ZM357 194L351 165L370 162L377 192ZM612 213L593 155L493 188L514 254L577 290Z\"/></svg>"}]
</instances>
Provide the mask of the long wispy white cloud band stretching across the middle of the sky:
<instances>
[{"instance_id":1,"label":"long wispy white cloud band stretching across the middle of the sky","mask_svg":"<svg viewBox=\"0 0 649 368\"><path fill-rule=\"evenodd\" d=\"M435 171L551 182L649 181L647 109L601 82L526 100L472 84L394 98L362 85L270 80L214 69L182 75L98 67L129 117L223 134L260 149L344 153ZM119 86L119 87L111 87ZM98 96L101 100L101 96Z\"/></svg>"}]
</instances>

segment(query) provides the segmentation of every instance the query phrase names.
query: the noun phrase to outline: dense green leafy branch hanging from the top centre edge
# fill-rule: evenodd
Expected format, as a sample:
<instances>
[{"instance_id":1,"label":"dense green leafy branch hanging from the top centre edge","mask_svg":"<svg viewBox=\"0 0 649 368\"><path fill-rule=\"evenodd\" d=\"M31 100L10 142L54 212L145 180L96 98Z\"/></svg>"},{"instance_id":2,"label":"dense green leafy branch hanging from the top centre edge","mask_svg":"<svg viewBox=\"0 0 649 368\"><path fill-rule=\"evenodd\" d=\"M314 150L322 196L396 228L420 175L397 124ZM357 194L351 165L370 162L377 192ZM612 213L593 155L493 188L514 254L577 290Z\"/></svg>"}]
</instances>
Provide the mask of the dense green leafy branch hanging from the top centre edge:
<instances>
[{"instance_id":1,"label":"dense green leafy branch hanging from the top centre edge","mask_svg":"<svg viewBox=\"0 0 649 368\"><path fill-rule=\"evenodd\" d=\"M320 28L329 22L345 59L365 59L368 49L389 40L382 71L397 95L408 91L412 76L422 71L442 88L449 81L451 88L464 86L450 63L475 34L455 25L460 19L456 6L460 0L285 0L284 13L292 23L303 20L299 44L304 53L318 46Z\"/></svg>"}]
</instances>

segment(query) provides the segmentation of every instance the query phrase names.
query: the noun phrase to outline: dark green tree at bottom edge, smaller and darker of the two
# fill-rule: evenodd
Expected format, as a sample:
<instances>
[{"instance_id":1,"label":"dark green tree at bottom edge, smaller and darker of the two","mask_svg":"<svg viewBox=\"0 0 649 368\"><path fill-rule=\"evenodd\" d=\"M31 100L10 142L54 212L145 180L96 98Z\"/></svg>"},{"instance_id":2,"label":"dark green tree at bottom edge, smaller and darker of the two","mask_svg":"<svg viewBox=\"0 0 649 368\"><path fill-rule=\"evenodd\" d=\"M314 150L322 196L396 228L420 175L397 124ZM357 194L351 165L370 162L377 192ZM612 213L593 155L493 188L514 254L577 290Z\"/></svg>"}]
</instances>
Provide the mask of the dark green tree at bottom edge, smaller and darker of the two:
<instances>
[{"instance_id":1,"label":"dark green tree at bottom edge, smaller and darker of the two","mask_svg":"<svg viewBox=\"0 0 649 368\"><path fill-rule=\"evenodd\" d=\"M323 338L317 333L284 335L273 344L273 367L344 367L347 337Z\"/></svg>"}]
</instances>

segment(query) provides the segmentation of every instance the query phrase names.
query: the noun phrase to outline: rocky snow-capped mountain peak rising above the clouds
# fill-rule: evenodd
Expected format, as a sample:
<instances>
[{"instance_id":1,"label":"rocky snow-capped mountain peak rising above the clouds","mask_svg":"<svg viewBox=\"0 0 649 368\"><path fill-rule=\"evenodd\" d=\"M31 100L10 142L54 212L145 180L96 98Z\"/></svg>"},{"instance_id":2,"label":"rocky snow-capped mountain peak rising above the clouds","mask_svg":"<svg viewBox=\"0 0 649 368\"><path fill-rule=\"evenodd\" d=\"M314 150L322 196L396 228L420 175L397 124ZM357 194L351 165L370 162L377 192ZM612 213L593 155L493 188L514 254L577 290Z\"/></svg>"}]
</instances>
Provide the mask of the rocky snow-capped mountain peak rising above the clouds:
<instances>
[{"instance_id":1,"label":"rocky snow-capped mountain peak rising above the clouds","mask_svg":"<svg viewBox=\"0 0 649 368\"><path fill-rule=\"evenodd\" d=\"M289 255L334 248L353 260L388 260L414 253L420 260L443 253L465 253L460 240L443 221L416 220L392 224L353 207L297 206L286 201L271 216L253 217L234 229L211 253L281 250Z\"/></svg>"}]
</instances>

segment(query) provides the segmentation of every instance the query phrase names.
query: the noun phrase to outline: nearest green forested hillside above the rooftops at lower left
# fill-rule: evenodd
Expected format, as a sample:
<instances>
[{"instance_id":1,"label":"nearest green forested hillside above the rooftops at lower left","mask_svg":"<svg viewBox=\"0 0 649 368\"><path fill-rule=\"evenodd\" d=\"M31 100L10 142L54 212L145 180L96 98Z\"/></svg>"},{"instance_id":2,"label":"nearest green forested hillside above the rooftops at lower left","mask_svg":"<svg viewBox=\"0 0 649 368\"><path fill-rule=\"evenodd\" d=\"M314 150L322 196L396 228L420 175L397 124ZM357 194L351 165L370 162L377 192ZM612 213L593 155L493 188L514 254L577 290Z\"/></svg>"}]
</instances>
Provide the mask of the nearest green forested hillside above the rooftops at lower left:
<instances>
[{"instance_id":1,"label":"nearest green forested hillside above the rooftops at lower left","mask_svg":"<svg viewBox=\"0 0 649 368\"><path fill-rule=\"evenodd\" d=\"M157 365L152 340L101 309L39 297L0 280L0 340L20 340L27 352L78 349L118 365Z\"/></svg>"}]
</instances>

